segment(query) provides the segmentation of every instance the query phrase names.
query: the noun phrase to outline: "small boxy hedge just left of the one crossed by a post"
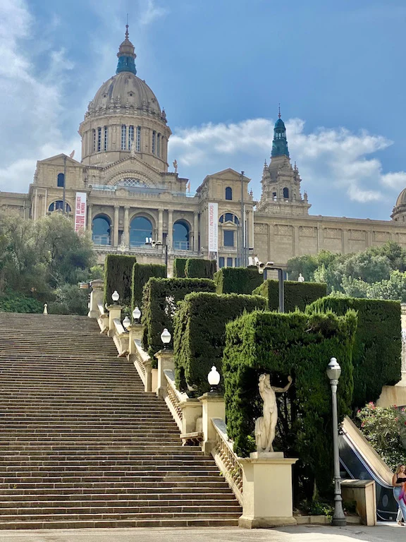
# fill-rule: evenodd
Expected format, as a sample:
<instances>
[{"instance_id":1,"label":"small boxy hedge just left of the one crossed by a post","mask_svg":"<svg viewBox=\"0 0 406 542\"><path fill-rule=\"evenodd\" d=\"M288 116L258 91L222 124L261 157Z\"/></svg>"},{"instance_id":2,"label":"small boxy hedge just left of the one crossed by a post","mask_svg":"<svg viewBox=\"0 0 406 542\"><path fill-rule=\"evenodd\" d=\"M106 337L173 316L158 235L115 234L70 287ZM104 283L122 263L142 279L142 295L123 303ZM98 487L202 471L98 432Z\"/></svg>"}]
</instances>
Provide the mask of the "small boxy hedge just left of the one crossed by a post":
<instances>
[{"instance_id":1,"label":"small boxy hedge just left of the one crossed by a post","mask_svg":"<svg viewBox=\"0 0 406 542\"><path fill-rule=\"evenodd\" d=\"M264 282L257 267L223 267L214 275L217 294L252 294Z\"/></svg>"}]
</instances>

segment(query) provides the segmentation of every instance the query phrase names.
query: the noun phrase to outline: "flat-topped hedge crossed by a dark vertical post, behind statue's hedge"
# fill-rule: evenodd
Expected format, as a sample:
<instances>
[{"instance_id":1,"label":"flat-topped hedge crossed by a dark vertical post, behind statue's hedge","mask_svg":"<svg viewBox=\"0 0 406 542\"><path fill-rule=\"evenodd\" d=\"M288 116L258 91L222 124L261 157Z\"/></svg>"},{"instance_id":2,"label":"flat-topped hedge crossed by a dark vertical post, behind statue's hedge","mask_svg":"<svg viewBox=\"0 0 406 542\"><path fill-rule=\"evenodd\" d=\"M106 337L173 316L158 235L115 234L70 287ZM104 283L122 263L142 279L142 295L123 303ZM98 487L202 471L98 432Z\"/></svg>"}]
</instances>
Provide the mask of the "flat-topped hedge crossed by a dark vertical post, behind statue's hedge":
<instances>
[{"instance_id":1,"label":"flat-topped hedge crossed by a dark vertical post, behind statue's hedge","mask_svg":"<svg viewBox=\"0 0 406 542\"><path fill-rule=\"evenodd\" d=\"M293 282L285 280L285 313L305 311L309 303L327 295L327 284L321 282ZM252 294L260 295L268 299L269 311L277 311L279 307L279 282L268 279L255 289Z\"/></svg>"}]
</instances>

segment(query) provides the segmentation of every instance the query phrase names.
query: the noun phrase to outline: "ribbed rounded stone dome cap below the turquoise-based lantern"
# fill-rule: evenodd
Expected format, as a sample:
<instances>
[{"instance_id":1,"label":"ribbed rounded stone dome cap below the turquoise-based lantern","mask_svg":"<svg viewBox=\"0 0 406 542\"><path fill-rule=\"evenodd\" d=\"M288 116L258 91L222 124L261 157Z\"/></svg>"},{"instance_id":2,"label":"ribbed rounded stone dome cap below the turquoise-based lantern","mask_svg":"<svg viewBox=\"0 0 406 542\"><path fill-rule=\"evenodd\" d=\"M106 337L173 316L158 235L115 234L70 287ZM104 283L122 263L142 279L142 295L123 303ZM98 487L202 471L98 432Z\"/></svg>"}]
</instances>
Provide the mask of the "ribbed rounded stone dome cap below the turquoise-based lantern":
<instances>
[{"instance_id":1,"label":"ribbed rounded stone dome cap below the turquoise-based lantern","mask_svg":"<svg viewBox=\"0 0 406 542\"><path fill-rule=\"evenodd\" d=\"M161 108L145 81L130 71L122 71L103 83L90 102L89 113L106 112L117 107L141 109L161 118Z\"/></svg>"}]
</instances>

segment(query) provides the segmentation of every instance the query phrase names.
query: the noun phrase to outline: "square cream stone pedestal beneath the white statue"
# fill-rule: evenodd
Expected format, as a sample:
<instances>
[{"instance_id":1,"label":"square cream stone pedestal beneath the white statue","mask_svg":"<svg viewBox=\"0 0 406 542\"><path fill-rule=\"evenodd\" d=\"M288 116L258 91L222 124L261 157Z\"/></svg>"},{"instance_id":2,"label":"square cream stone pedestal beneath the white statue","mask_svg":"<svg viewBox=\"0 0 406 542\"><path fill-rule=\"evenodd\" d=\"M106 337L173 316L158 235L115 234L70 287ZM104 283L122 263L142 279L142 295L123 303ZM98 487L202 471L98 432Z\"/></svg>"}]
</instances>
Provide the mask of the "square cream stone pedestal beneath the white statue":
<instances>
[{"instance_id":1,"label":"square cream stone pedestal beneath the white statue","mask_svg":"<svg viewBox=\"0 0 406 542\"><path fill-rule=\"evenodd\" d=\"M292 465L282 452L254 452L239 459L244 504L238 525L259 529L296 524L293 517Z\"/></svg>"}]
</instances>

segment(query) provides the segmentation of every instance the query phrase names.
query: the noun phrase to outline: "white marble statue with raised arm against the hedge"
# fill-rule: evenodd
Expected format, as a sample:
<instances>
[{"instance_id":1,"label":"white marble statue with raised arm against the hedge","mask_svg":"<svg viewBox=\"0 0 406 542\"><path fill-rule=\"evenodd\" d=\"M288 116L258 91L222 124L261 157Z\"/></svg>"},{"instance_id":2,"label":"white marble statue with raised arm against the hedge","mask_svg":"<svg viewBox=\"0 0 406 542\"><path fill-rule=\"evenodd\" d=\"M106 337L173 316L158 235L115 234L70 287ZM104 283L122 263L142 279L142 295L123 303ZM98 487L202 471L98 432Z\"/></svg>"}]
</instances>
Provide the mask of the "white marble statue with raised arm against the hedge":
<instances>
[{"instance_id":1,"label":"white marble statue with raised arm against the hedge","mask_svg":"<svg viewBox=\"0 0 406 542\"><path fill-rule=\"evenodd\" d=\"M271 385L270 375L259 376L259 395L264 401L264 416L257 418L255 422L255 441L257 452L273 452L273 440L275 440L275 429L278 421L278 405L276 404L276 393L285 393L292 384L292 377L288 376L288 384L285 387L274 387Z\"/></svg>"}]
</instances>

